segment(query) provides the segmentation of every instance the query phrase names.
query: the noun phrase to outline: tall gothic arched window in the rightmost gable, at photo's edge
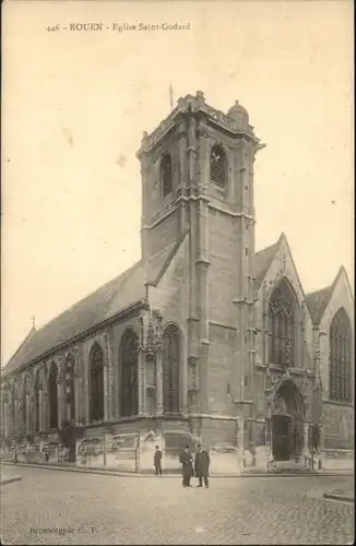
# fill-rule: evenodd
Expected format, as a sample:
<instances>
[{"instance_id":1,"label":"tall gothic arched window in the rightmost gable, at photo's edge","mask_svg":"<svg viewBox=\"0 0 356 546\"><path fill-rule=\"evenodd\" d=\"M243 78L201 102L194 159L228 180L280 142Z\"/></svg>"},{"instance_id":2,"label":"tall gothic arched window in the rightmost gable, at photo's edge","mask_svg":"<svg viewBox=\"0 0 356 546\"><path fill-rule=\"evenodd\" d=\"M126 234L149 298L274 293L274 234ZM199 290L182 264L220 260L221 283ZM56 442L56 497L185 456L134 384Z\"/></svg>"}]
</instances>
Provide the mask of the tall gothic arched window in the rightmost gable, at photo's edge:
<instances>
[{"instance_id":1,"label":"tall gothic arched window in the rightmost gable, at photo's edge","mask_svg":"<svg viewBox=\"0 0 356 546\"><path fill-rule=\"evenodd\" d=\"M330 325L329 393L330 400L351 402L351 322L344 308L335 314Z\"/></svg>"}]
</instances>

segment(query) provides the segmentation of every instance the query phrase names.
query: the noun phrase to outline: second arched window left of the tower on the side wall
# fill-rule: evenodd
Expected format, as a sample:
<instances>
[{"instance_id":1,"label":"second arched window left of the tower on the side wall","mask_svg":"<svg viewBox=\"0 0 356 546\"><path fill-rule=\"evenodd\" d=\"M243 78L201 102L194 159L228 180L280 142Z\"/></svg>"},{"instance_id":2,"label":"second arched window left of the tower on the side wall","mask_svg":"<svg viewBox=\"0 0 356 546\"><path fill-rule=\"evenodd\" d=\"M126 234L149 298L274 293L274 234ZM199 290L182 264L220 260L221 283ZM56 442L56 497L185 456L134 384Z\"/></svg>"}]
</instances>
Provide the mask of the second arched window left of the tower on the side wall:
<instances>
[{"instance_id":1,"label":"second arched window left of the tower on the side wall","mask_svg":"<svg viewBox=\"0 0 356 546\"><path fill-rule=\"evenodd\" d=\"M120 416L139 413L139 339L133 330L127 330L120 344Z\"/></svg>"}]
</instances>

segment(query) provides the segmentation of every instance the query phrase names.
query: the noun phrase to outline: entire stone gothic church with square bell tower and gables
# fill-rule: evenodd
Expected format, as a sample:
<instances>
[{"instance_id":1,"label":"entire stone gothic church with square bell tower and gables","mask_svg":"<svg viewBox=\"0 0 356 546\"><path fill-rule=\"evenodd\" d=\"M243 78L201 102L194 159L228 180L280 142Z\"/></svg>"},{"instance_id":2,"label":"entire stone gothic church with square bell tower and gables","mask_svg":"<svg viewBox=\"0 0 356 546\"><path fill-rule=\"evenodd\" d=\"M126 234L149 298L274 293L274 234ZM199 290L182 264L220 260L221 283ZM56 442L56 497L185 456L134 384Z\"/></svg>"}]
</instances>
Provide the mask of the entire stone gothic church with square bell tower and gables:
<instances>
[{"instance_id":1,"label":"entire stone gothic church with square bell tower and gables","mask_svg":"<svg viewBox=\"0 0 356 546\"><path fill-rule=\"evenodd\" d=\"M202 92L143 133L142 258L2 369L3 452L144 472L155 444L173 468L201 441L212 472L353 465L352 289L341 266L305 294L284 234L256 252L263 147Z\"/></svg>"}]
</instances>

